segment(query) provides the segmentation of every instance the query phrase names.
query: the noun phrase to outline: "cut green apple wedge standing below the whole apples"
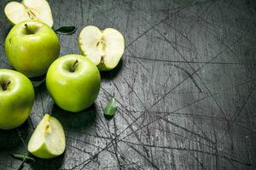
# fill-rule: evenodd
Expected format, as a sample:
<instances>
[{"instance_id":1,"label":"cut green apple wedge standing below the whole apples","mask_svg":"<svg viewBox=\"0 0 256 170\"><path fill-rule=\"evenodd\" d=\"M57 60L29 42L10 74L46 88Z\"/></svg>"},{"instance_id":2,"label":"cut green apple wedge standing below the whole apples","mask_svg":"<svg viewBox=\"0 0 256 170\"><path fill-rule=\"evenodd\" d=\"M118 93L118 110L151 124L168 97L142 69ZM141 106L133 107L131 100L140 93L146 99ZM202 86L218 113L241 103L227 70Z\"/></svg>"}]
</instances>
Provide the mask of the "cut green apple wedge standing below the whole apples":
<instances>
[{"instance_id":1,"label":"cut green apple wedge standing below the whole apples","mask_svg":"<svg viewBox=\"0 0 256 170\"><path fill-rule=\"evenodd\" d=\"M34 156L49 159L60 156L66 147L66 139L61 122L46 114L32 133L27 150Z\"/></svg>"}]
</instances>

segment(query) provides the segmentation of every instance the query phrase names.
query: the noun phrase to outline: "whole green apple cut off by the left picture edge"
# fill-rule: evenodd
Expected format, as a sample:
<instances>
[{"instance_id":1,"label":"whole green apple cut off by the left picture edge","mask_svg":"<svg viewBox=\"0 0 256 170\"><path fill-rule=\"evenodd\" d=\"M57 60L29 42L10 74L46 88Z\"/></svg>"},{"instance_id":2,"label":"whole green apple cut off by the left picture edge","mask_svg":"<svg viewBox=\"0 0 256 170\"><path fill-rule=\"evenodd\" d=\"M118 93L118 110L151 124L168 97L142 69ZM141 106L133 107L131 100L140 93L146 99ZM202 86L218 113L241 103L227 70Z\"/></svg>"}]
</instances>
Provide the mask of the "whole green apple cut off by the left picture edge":
<instances>
[{"instance_id":1,"label":"whole green apple cut off by the left picture edge","mask_svg":"<svg viewBox=\"0 0 256 170\"><path fill-rule=\"evenodd\" d=\"M9 85L4 90L4 83ZM32 82L18 71L0 69L0 128L13 129L26 121L35 99Z\"/></svg>"}]
</instances>

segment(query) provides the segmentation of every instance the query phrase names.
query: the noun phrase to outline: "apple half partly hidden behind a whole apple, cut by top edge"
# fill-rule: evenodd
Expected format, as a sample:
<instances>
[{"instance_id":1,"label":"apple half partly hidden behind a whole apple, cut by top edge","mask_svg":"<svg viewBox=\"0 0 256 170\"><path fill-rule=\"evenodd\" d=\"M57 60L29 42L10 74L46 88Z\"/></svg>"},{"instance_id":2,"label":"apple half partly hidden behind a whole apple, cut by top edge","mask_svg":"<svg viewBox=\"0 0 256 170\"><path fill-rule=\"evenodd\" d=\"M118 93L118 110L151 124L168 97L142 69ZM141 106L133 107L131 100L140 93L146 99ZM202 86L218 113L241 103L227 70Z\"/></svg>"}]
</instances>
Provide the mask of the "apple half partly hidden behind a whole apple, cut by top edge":
<instances>
[{"instance_id":1,"label":"apple half partly hidden behind a whole apple, cut by top edge","mask_svg":"<svg viewBox=\"0 0 256 170\"><path fill-rule=\"evenodd\" d=\"M13 25L24 20L40 20L50 27L53 26L51 10L46 0L10 2L5 6L4 13Z\"/></svg>"}]
</instances>

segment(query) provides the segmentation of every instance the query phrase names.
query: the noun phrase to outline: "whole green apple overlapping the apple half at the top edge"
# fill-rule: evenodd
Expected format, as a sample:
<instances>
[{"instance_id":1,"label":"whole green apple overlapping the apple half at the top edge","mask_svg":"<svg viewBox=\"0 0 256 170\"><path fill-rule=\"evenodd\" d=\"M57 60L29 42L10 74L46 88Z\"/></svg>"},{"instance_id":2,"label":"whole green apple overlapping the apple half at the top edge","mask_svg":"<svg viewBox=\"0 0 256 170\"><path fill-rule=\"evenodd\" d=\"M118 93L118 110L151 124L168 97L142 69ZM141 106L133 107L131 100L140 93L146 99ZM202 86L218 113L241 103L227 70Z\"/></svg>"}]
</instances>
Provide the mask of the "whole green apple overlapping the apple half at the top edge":
<instances>
[{"instance_id":1,"label":"whole green apple overlapping the apple half at the top edge","mask_svg":"<svg viewBox=\"0 0 256 170\"><path fill-rule=\"evenodd\" d=\"M30 33L28 33L26 26ZM60 54L60 42L49 26L38 20L15 25L5 40L7 58L26 77L44 75Z\"/></svg>"}]
</instances>

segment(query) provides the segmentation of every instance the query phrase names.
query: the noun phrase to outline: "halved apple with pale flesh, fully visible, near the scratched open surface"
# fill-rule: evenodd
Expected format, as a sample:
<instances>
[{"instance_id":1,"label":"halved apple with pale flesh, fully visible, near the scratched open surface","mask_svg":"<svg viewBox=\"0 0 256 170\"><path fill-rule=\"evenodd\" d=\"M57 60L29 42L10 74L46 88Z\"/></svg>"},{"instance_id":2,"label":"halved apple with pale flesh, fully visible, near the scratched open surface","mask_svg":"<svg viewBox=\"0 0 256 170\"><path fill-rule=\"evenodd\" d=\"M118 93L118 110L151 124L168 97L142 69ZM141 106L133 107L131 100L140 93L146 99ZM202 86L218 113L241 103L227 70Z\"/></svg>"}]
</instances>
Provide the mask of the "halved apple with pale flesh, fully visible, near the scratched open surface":
<instances>
[{"instance_id":1,"label":"halved apple with pale flesh, fully visible, near the scratched open surface","mask_svg":"<svg viewBox=\"0 0 256 170\"><path fill-rule=\"evenodd\" d=\"M123 35L113 29L101 31L96 26L86 26L79 35L81 53L101 71L112 70L118 65L125 50Z\"/></svg>"}]
</instances>

